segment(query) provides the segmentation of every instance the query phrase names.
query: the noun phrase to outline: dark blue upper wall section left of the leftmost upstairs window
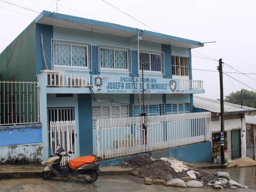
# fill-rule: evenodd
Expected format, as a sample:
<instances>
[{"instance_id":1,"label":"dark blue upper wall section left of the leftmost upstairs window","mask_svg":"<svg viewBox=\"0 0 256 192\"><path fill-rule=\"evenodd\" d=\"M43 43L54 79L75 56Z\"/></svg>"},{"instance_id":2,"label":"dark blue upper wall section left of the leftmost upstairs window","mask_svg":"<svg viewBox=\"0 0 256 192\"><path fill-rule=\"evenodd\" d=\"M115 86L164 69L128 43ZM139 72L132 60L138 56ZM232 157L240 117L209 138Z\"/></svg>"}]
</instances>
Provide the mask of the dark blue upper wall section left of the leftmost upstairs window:
<instances>
[{"instance_id":1,"label":"dark blue upper wall section left of the leftmost upstairs window","mask_svg":"<svg viewBox=\"0 0 256 192\"><path fill-rule=\"evenodd\" d=\"M46 69L40 34L43 35L45 54L51 60L51 38L53 38L53 26L39 23L36 24L36 74L39 74L42 69ZM46 55L45 57L48 69L51 69L51 61L49 61Z\"/></svg>"}]
</instances>

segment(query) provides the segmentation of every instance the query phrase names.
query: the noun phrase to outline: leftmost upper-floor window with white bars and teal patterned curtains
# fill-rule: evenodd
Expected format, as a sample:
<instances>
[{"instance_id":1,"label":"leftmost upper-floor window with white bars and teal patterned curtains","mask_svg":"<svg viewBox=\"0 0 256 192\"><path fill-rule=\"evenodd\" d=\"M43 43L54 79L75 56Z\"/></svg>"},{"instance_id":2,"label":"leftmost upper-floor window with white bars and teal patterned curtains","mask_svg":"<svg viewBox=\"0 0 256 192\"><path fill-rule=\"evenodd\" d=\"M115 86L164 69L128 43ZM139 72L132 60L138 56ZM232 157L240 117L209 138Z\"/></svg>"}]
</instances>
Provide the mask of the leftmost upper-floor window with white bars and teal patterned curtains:
<instances>
[{"instance_id":1,"label":"leftmost upper-floor window with white bars and teal patterned curtains","mask_svg":"<svg viewBox=\"0 0 256 192\"><path fill-rule=\"evenodd\" d=\"M91 44L52 39L52 69L91 71Z\"/></svg>"}]
</instances>

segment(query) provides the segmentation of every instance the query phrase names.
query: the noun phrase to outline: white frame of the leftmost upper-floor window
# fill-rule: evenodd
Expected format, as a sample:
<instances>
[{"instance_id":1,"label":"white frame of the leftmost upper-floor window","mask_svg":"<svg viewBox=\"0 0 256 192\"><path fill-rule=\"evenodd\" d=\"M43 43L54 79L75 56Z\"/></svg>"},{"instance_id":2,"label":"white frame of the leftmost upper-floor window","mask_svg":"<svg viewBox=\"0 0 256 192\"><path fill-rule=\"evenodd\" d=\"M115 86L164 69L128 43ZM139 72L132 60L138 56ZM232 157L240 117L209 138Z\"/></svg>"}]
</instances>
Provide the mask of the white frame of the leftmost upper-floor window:
<instances>
[{"instance_id":1,"label":"white frame of the leftmost upper-floor window","mask_svg":"<svg viewBox=\"0 0 256 192\"><path fill-rule=\"evenodd\" d=\"M61 44L61 45L69 45L70 46L70 65L60 65L60 64L55 64L55 45L56 44ZM86 47L86 65L87 66L74 66L72 63L72 47L73 46L81 46L81 47ZM89 54L89 49L91 52L91 43L84 43L84 42L75 42L75 41L66 41L66 40L58 40L58 39L51 39L51 63L52 63L52 69L55 67L59 67L58 69L67 69L67 70L73 70L74 68L77 70L86 70L88 71L90 69L89 66L91 66L91 59L92 55Z\"/></svg>"}]
</instances>

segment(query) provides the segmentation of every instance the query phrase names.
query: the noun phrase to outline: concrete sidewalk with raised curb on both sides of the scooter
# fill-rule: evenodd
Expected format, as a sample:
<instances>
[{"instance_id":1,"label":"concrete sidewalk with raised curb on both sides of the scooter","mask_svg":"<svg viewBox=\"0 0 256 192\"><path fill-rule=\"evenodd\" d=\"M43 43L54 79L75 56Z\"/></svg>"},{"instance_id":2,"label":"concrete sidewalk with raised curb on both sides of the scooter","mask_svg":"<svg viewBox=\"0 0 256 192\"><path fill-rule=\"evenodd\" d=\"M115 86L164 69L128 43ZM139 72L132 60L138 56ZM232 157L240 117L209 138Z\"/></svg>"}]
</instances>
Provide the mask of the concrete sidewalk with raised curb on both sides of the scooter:
<instances>
[{"instance_id":1,"label":"concrete sidewalk with raised curb on both sides of the scooter","mask_svg":"<svg viewBox=\"0 0 256 192\"><path fill-rule=\"evenodd\" d=\"M44 166L41 165L0 165L0 180L41 177L43 168ZM123 175L129 173L132 169L122 166L100 167L100 175Z\"/></svg>"}]
</instances>

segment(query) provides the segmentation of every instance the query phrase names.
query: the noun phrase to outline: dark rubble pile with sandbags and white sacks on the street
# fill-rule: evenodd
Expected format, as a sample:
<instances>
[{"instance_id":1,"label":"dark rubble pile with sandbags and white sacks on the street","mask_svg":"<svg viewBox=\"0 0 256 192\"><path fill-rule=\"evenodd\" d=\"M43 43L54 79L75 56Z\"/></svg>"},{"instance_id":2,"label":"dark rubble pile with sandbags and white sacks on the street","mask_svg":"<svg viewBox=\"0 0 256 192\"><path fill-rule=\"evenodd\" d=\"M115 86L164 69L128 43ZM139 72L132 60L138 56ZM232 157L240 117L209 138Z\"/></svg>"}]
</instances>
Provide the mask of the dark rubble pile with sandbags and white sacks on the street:
<instances>
[{"instance_id":1,"label":"dark rubble pile with sandbags and white sacks on the street","mask_svg":"<svg viewBox=\"0 0 256 192\"><path fill-rule=\"evenodd\" d=\"M176 187L208 187L232 190L247 188L230 179L226 172L216 174L193 169L191 164L174 158L152 159L149 156L132 157L123 163L134 168L130 174L145 178L146 185L164 184Z\"/></svg>"}]
</instances>

